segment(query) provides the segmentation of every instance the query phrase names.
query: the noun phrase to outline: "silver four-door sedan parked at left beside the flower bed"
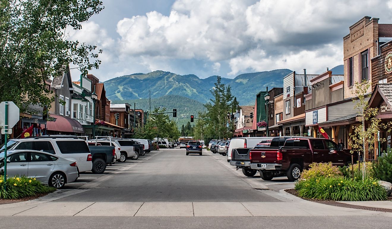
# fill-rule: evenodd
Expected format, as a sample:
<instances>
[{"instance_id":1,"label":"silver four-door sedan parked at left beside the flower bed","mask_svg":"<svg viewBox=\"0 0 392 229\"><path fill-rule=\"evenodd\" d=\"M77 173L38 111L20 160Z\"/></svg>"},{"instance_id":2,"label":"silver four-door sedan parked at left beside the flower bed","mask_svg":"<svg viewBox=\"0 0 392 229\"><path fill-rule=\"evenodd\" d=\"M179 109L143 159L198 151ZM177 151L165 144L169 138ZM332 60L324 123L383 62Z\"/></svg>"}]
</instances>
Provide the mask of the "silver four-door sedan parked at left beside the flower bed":
<instances>
[{"instance_id":1,"label":"silver four-door sedan parked at left beside the flower bed","mask_svg":"<svg viewBox=\"0 0 392 229\"><path fill-rule=\"evenodd\" d=\"M4 152L0 154L4 169ZM78 179L79 172L75 161L60 158L47 152L36 150L8 150L7 175L36 178L43 184L61 189L66 183Z\"/></svg>"}]
</instances>

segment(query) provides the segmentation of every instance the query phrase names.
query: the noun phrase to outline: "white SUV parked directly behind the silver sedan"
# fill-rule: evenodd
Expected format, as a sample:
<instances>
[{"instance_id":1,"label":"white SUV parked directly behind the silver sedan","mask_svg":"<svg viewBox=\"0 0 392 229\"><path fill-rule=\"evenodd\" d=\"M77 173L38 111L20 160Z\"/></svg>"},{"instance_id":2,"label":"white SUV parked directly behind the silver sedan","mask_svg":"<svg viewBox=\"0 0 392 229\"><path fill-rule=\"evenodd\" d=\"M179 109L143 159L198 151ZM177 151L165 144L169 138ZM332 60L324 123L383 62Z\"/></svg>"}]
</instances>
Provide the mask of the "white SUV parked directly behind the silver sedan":
<instances>
[{"instance_id":1,"label":"white SUV parked directly behind the silver sedan","mask_svg":"<svg viewBox=\"0 0 392 229\"><path fill-rule=\"evenodd\" d=\"M78 163L79 172L91 171L93 156L83 139L75 136L40 136L35 138L11 139L9 150L37 150L54 154ZM4 151L4 147L0 149Z\"/></svg>"}]
</instances>

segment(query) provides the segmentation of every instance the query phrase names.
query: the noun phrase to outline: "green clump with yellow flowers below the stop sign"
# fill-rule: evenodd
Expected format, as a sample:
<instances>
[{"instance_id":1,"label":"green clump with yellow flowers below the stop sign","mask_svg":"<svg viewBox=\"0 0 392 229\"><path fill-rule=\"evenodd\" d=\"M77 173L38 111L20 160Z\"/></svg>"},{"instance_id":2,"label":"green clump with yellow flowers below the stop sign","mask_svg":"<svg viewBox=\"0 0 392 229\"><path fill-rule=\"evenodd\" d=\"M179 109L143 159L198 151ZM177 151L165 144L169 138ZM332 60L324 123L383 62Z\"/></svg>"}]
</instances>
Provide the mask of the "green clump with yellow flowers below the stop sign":
<instances>
[{"instance_id":1,"label":"green clump with yellow flowers below the stop sign","mask_svg":"<svg viewBox=\"0 0 392 229\"><path fill-rule=\"evenodd\" d=\"M42 185L35 178L25 176L7 178L5 186L6 190L4 190L4 176L0 176L0 198L2 199L18 199L56 191L55 188Z\"/></svg>"}]
</instances>

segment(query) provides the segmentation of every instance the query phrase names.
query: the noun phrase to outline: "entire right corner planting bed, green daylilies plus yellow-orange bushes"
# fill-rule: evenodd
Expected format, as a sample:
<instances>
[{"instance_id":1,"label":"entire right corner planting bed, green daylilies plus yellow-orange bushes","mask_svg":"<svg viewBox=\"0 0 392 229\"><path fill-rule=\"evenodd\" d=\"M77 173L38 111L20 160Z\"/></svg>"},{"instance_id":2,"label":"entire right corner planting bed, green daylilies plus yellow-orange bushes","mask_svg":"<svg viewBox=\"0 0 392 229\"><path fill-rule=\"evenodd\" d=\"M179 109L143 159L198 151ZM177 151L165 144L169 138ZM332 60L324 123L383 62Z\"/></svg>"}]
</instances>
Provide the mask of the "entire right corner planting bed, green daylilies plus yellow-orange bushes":
<instances>
[{"instance_id":1,"label":"entire right corner planting bed, green daylilies plus yellow-orange bushes","mask_svg":"<svg viewBox=\"0 0 392 229\"><path fill-rule=\"evenodd\" d=\"M387 190L380 180L374 177L373 168L362 179L358 165L354 171L347 167L339 168L332 163L313 163L309 170L301 173L295 183L295 191L289 191L301 198L334 201L375 201L387 200Z\"/></svg>"}]
</instances>

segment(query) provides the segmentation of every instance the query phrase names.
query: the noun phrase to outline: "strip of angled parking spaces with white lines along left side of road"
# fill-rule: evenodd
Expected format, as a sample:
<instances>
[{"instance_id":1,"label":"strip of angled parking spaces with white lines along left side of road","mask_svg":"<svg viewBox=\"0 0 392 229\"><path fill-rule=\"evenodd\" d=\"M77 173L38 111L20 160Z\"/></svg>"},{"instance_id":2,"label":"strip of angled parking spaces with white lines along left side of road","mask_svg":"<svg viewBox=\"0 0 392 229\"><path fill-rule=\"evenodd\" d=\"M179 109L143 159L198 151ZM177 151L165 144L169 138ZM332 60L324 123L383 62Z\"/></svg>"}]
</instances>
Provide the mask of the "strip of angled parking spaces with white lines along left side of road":
<instances>
[{"instance_id":1,"label":"strip of angled parking spaces with white lines along left side of road","mask_svg":"<svg viewBox=\"0 0 392 229\"><path fill-rule=\"evenodd\" d=\"M116 162L113 165L107 165L105 172L103 172L102 174L93 174L93 172L91 171L81 172L78 180L72 183L67 183L63 190L67 191L67 190L79 189L83 185L97 178L100 178L101 176L105 176L106 174L110 174L118 169L121 169L125 165L140 163L141 161L148 160L149 158L151 158L151 156L154 156L154 154L156 154L157 152L158 151L152 151L150 153L145 154L144 156L139 156L137 160L127 159L127 161L125 161L124 163Z\"/></svg>"}]
</instances>

